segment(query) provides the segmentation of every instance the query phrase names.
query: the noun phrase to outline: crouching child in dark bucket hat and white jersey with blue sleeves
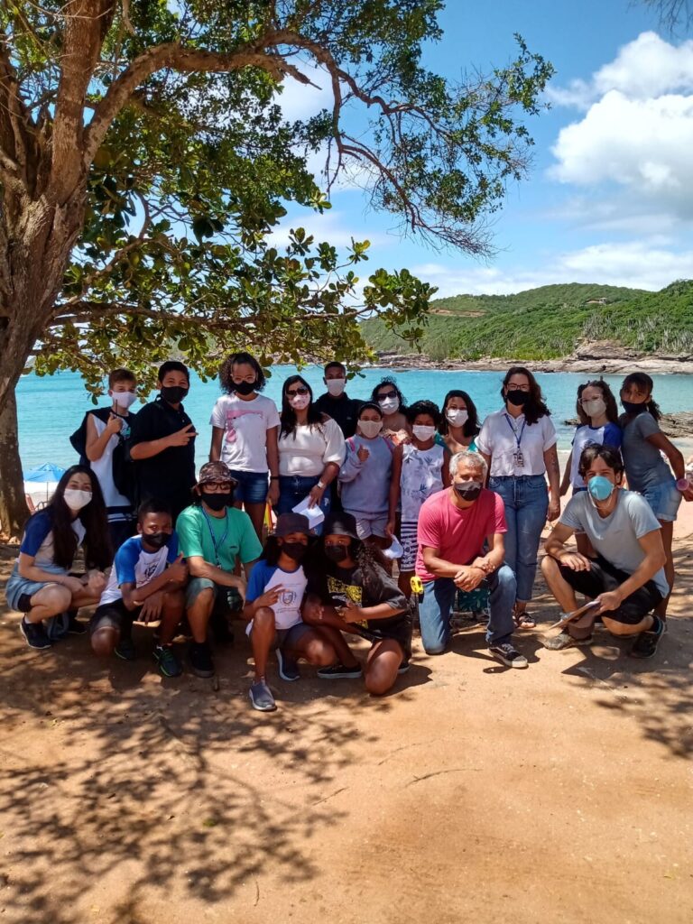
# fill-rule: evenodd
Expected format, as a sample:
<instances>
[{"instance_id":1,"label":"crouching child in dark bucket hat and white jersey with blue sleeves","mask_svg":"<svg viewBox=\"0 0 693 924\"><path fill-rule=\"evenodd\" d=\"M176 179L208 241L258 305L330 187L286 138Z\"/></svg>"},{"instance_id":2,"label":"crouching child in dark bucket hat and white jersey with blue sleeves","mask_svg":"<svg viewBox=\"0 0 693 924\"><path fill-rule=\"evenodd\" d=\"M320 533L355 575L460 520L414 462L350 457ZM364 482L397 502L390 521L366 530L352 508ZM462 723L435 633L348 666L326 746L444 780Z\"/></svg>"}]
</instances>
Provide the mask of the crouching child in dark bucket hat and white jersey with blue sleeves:
<instances>
[{"instance_id":1,"label":"crouching child in dark bucket hat and white jersey with blue sleeves","mask_svg":"<svg viewBox=\"0 0 693 924\"><path fill-rule=\"evenodd\" d=\"M310 664L333 664L337 654L320 629L306 626L301 605L306 592L306 576L301 561L308 551L310 524L301 514L282 514L274 535L269 536L254 565L246 591L243 615L249 619L246 630L255 658L255 678L249 689L254 709L276 709L265 674L270 650L276 649L279 675L298 680L298 658Z\"/></svg>"}]
</instances>

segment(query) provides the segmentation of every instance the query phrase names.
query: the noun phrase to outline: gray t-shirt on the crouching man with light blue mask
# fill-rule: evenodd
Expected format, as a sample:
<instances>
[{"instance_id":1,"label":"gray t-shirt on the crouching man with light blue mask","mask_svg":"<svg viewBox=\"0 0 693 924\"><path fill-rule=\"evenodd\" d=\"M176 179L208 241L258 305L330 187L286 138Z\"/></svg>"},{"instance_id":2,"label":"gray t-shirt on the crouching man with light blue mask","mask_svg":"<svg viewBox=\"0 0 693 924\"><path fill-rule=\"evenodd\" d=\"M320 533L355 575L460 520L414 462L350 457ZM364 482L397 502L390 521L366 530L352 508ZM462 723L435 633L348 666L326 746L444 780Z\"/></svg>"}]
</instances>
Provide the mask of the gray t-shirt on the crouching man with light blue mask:
<instances>
[{"instance_id":1,"label":"gray t-shirt on the crouching man with light blue mask","mask_svg":"<svg viewBox=\"0 0 693 924\"><path fill-rule=\"evenodd\" d=\"M638 539L661 527L644 497L632 491L617 490L618 500L608 517L600 517L588 492L582 491L570 498L559 522L570 529L586 532L595 552L632 575L645 558ZM660 568L652 580L657 590L666 596L669 585L664 569Z\"/></svg>"}]
</instances>

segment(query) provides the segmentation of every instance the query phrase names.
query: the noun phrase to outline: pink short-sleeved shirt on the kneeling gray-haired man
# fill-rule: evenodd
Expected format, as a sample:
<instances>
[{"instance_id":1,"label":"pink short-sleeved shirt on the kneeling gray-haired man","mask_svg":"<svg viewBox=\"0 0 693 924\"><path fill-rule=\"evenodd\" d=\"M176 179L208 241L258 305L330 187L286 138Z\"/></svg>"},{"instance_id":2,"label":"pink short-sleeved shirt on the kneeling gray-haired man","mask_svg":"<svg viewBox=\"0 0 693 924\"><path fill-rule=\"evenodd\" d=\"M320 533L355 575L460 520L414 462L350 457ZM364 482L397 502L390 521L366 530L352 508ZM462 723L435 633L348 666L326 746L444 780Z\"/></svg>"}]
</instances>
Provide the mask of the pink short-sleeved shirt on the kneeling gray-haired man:
<instances>
[{"instance_id":1,"label":"pink short-sleeved shirt on the kneeling gray-haired man","mask_svg":"<svg viewBox=\"0 0 693 924\"><path fill-rule=\"evenodd\" d=\"M416 573L421 580L435 580L423 564L421 546L438 550L438 556L456 565L468 565L481 553L483 541L497 532L507 532L505 505L500 494L484 488L477 502L460 510L450 498L452 488L432 494L419 513L419 551Z\"/></svg>"}]
</instances>

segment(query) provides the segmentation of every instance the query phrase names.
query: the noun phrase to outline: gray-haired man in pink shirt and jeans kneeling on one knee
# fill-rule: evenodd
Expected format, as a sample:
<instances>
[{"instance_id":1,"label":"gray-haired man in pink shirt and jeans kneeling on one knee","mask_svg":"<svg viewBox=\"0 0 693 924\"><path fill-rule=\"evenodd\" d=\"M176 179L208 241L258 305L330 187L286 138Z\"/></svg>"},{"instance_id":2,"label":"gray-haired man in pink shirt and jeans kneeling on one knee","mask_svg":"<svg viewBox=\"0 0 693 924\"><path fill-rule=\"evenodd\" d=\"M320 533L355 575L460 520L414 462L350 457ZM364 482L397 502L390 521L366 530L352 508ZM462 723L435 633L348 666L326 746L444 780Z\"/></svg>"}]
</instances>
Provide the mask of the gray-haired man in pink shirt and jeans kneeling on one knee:
<instances>
[{"instance_id":1,"label":"gray-haired man in pink shirt and jeans kneeling on one knee","mask_svg":"<svg viewBox=\"0 0 693 924\"><path fill-rule=\"evenodd\" d=\"M419 514L416 573L423 582L419 606L423 648L427 654L443 654L456 588L475 590L483 584L491 591L489 650L508 667L527 667L527 658L510 641L516 580L504 564L503 500L484 488L486 462L479 453L453 456L450 475L451 486L432 494Z\"/></svg>"}]
</instances>

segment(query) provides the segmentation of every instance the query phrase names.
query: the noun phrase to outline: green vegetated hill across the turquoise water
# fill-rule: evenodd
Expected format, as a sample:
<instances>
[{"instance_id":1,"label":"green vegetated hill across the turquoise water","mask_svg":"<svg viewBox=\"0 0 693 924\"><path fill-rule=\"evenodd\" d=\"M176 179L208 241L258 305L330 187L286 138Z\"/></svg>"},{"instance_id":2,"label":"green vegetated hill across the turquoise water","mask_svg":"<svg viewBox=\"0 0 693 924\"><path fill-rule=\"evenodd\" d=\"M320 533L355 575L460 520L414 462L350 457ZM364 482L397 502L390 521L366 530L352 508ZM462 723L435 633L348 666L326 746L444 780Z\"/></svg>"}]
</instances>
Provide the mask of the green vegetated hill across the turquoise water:
<instances>
[{"instance_id":1,"label":"green vegetated hill across the turquoise water","mask_svg":"<svg viewBox=\"0 0 693 924\"><path fill-rule=\"evenodd\" d=\"M460 295L431 304L417 345L377 318L363 323L378 352L431 359L562 359L582 341L608 340L645 353L693 352L693 281L661 292L571 283L508 296Z\"/></svg>"}]
</instances>

